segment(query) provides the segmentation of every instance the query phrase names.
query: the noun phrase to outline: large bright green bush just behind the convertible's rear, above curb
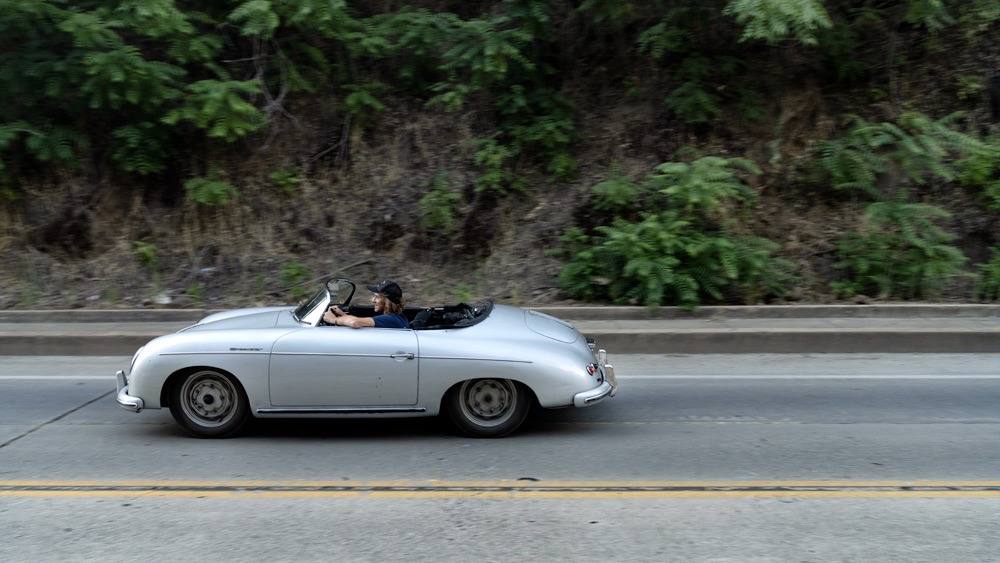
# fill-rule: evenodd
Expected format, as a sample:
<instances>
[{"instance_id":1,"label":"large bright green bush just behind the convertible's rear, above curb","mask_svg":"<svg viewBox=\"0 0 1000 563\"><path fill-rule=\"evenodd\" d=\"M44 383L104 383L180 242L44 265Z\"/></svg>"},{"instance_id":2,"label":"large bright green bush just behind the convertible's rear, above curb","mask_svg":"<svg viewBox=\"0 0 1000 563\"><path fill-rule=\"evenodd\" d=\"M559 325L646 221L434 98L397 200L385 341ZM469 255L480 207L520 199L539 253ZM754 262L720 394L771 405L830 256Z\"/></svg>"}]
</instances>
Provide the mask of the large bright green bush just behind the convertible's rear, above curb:
<instances>
[{"instance_id":1,"label":"large bright green bush just behind the convertible's rear, above curb","mask_svg":"<svg viewBox=\"0 0 1000 563\"><path fill-rule=\"evenodd\" d=\"M578 299L689 308L705 299L781 295L791 265L773 256L778 245L740 234L727 213L753 200L741 171L759 169L745 159L703 157L663 163L642 183L617 175L594 186L603 210L657 210L639 221L618 216L593 236L567 231L563 289Z\"/></svg>"}]
</instances>

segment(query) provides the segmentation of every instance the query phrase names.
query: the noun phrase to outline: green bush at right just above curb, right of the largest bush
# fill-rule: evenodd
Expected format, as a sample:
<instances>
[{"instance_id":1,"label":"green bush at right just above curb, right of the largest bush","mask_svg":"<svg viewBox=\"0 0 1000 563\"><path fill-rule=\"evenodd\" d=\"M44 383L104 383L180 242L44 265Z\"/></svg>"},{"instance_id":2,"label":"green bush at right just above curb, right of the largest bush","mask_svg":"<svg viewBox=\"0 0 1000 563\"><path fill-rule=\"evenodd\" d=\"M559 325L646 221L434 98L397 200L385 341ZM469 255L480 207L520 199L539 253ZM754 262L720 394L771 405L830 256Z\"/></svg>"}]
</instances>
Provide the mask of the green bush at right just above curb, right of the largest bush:
<instances>
[{"instance_id":1,"label":"green bush at right just above curb, right of the largest bush","mask_svg":"<svg viewBox=\"0 0 1000 563\"><path fill-rule=\"evenodd\" d=\"M901 200L870 204L865 226L838 244L837 268L850 279L833 289L846 296L922 298L958 274L966 257L949 244L955 237L938 225L950 214L922 203Z\"/></svg>"}]
</instances>

